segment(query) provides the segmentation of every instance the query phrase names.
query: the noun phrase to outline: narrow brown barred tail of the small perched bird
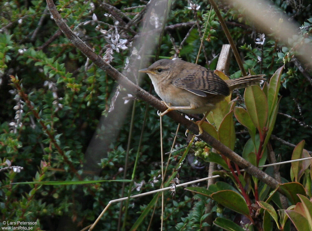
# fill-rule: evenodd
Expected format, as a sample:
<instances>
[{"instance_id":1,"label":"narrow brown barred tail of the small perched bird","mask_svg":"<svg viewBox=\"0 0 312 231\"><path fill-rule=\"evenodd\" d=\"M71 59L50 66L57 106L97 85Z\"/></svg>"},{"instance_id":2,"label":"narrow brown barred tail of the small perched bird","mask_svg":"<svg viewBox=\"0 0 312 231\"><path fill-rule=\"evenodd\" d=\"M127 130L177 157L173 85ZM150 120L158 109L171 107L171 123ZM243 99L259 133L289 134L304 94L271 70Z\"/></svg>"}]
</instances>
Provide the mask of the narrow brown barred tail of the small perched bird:
<instances>
[{"instance_id":1,"label":"narrow brown barred tail of the small perched bird","mask_svg":"<svg viewBox=\"0 0 312 231\"><path fill-rule=\"evenodd\" d=\"M262 80L265 80L265 78L263 78L264 76L265 75L244 76L237 79L226 80L226 83L229 86L229 89L232 91L234 89L259 84Z\"/></svg>"}]
</instances>

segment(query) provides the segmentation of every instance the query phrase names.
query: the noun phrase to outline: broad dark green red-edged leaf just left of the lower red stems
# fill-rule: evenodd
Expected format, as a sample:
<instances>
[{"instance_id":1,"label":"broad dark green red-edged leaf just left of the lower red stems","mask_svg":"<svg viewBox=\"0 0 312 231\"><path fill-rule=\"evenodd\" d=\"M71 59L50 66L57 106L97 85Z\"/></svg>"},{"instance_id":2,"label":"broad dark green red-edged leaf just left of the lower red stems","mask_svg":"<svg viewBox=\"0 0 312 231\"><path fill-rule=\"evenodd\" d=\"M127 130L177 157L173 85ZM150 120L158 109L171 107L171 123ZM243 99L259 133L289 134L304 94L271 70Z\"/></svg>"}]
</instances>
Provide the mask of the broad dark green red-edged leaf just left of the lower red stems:
<instances>
[{"instance_id":1,"label":"broad dark green red-edged leaf just left of the lower red stems","mask_svg":"<svg viewBox=\"0 0 312 231\"><path fill-rule=\"evenodd\" d=\"M224 207L227 207L247 217L250 217L246 201L237 192L234 192L232 190L222 190L212 193L211 197L214 201L223 205Z\"/></svg>"}]
</instances>

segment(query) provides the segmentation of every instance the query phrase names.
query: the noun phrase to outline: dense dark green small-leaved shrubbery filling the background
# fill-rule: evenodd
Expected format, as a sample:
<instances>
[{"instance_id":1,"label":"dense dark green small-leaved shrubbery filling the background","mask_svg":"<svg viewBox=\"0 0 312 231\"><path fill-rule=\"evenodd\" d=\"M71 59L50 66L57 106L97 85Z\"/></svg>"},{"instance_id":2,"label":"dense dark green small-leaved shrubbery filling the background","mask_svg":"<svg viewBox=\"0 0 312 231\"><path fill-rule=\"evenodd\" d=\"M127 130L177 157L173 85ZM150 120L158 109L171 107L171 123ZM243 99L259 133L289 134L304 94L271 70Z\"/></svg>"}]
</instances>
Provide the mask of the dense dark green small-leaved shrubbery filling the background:
<instances>
[{"instance_id":1,"label":"dense dark green small-leaved shrubbery filling the background","mask_svg":"<svg viewBox=\"0 0 312 231\"><path fill-rule=\"evenodd\" d=\"M128 20L144 9L135 6L143 6L145 3L109 1L107 4L115 7L113 12L115 11L117 16L123 16L123 22L119 21L114 13L109 12L108 7L101 1L64 0L57 1L56 5L71 29L96 53L101 53L112 66L122 71L127 57L130 56L131 42L140 28L140 24L136 23L129 30L123 30L123 23L128 23ZM201 1L194 3L200 5L196 14L203 33L210 6ZM312 10L309 1L295 4L295 1L276 0L271 3L298 24L298 36L303 36L305 43L311 44ZM166 25L183 22L193 22L195 25L194 12L188 7L187 1L173 1ZM275 153L281 160L288 160L293 147L286 145L285 141L296 145L303 139L306 141L305 148L312 150L311 70L302 63L306 71L304 76L294 62L298 61L293 56L294 49L286 48L273 36L265 35L265 40L258 39L262 32L246 21L242 12L228 5L220 4L219 7L245 62L246 70L251 68L256 73L271 76L277 68L285 65L283 85L280 89L280 114L273 131L275 138L273 137L271 142ZM142 21L144 17L139 19ZM114 27L117 21L120 27ZM0 172L1 219L37 221L37 230L80 230L91 224L110 200L121 196L121 182L67 186L10 183L123 179L127 148L129 169L126 178L131 178L135 154L139 149L140 159L135 182L146 183L137 185L136 189L145 192L160 187L160 182L156 181L159 180L160 174L159 117L156 110L145 102L136 101L128 147L131 109L124 112L124 115L114 114L114 111L108 113L116 89L114 81L68 42L50 18L45 1L2 1L0 23L0 166L5 168L11 164L24 168L20 172L14 172L12 169ZM173 55L175 51L172 41L174 40L175 46L179 47L193 24L166 29L162 37L160 55ZM107 30L107 34L101 33L97 26L100 26L101 30ZM115 28L117 32L114 31ZM203 35L203 45L208 60L212 61L210 68L213 69L217 61L216 56L220 53L222 44L227 43L227 39L213 11L207 28ZM189 32L179 49L179 57L195 62L201 38L197 26ZM115 39L118 37L118 51L118 47L114 47L112 42L113 37L108 35L115 36ZM151 62L153 61L151 58ZM203 53L200 54L198 63L206 65ZM234 59L229 73L232 77L240 75ZM18 81L14 81L15 84L12 83L10 75L18 78ZM144 76L142 87L146 90L150 88L147 76ZM124 90L121 90L120 94L126 96ZM154 91L152 94L155 95ZM242 91L235 94L242 94ZM118 100L120 102L116 102L116 105L122 107L124 100L122 97ZM128 103L129 106L132 102L131 100ZM138 147L146 107L146 125L141 147ZM119 132L113 129L117 126L120 126ZM175 122L163 117L165 152L170 151L176 126ZM243 130L243 127L237 124L236 132ZM91 142L96 131L99 135ZM184 128L180 130L176 148L187 144L184 132ZM280 139L276 140L276 137ZM244 132L237 135L237 153L241 152L247 138L247 133ZM169 169L176 163L175 155ZM207 175L205 163L201 163L204 168L194 167L190 163L190 160L183 163L179 172L181 181L186 182ZM280 171L282 177L288 180L289 166L281 166ZM129 184L126 184L126 192L128 187ZM199 200L200 196L193 197L183 189L178 189L173 197L169 194L170 192L166 193L165 230L176 230L175 226L179 222L188 224L186 228L189 230L200 227L203 221L199 221L197 216L204 213L202 208L205 198ZM131 209L128 211L126 227L131 227L149 201L149 197L130 201ZM113 204L98 224L97 230L116 230L119 214L117 211L119 204ZM225 211L225 214L230 218L234 216L229 211ZM153 230L160 226L159 217L158 207L152 222ZM148 224L149 219L145 219L140 230L146 230ZM218 230L217 227L214 229Z\"/></svg>"}]
</instances>

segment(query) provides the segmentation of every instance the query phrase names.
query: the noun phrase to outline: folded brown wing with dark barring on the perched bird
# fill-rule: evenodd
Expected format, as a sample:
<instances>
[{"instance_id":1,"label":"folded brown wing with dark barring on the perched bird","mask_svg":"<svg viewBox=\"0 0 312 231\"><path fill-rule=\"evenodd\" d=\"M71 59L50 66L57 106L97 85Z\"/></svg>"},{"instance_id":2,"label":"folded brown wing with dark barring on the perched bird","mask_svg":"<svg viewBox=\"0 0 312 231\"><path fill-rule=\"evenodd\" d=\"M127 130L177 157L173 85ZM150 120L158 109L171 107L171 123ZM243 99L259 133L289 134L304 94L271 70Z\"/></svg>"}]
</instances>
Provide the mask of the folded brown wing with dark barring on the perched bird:
<instances>
[{"instance_id":1,"label":"folded brown wing with dark barring on the perched bird","mask_svg":"<svg viewBox=\"0 0 312 231\"><path fill-rule=\"evenodd\" d=\"M230 90L225 81L206 68L199 68L197 71L183 70L173 85L188 90L196 95L205 97L206 93L213 95L229 95Z\"/></svg>"}]
</instances>

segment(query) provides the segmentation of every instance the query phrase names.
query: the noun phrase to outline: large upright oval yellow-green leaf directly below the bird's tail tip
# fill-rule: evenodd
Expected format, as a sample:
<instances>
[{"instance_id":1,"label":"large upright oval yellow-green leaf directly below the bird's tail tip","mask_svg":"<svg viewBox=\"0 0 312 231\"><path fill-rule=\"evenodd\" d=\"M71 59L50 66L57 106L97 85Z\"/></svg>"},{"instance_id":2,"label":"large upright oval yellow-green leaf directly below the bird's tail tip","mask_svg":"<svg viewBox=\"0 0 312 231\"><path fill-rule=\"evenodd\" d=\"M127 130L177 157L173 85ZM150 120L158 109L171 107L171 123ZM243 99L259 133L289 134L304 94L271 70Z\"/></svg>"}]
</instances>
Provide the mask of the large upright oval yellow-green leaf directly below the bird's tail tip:
<instances>
[{"instance_id":1,"label":"large upright oval yellow-green leaf directly below the bird's tail tip","mask_svg":"<svg viewBox=\"0 0 312 231\"><path fill-rule=\"evenodd\" d=\"M244 94L247 112L259 132L266 126L268 102L266 95L258 85L249 86Z\"/></svg>"}]
</instances>

